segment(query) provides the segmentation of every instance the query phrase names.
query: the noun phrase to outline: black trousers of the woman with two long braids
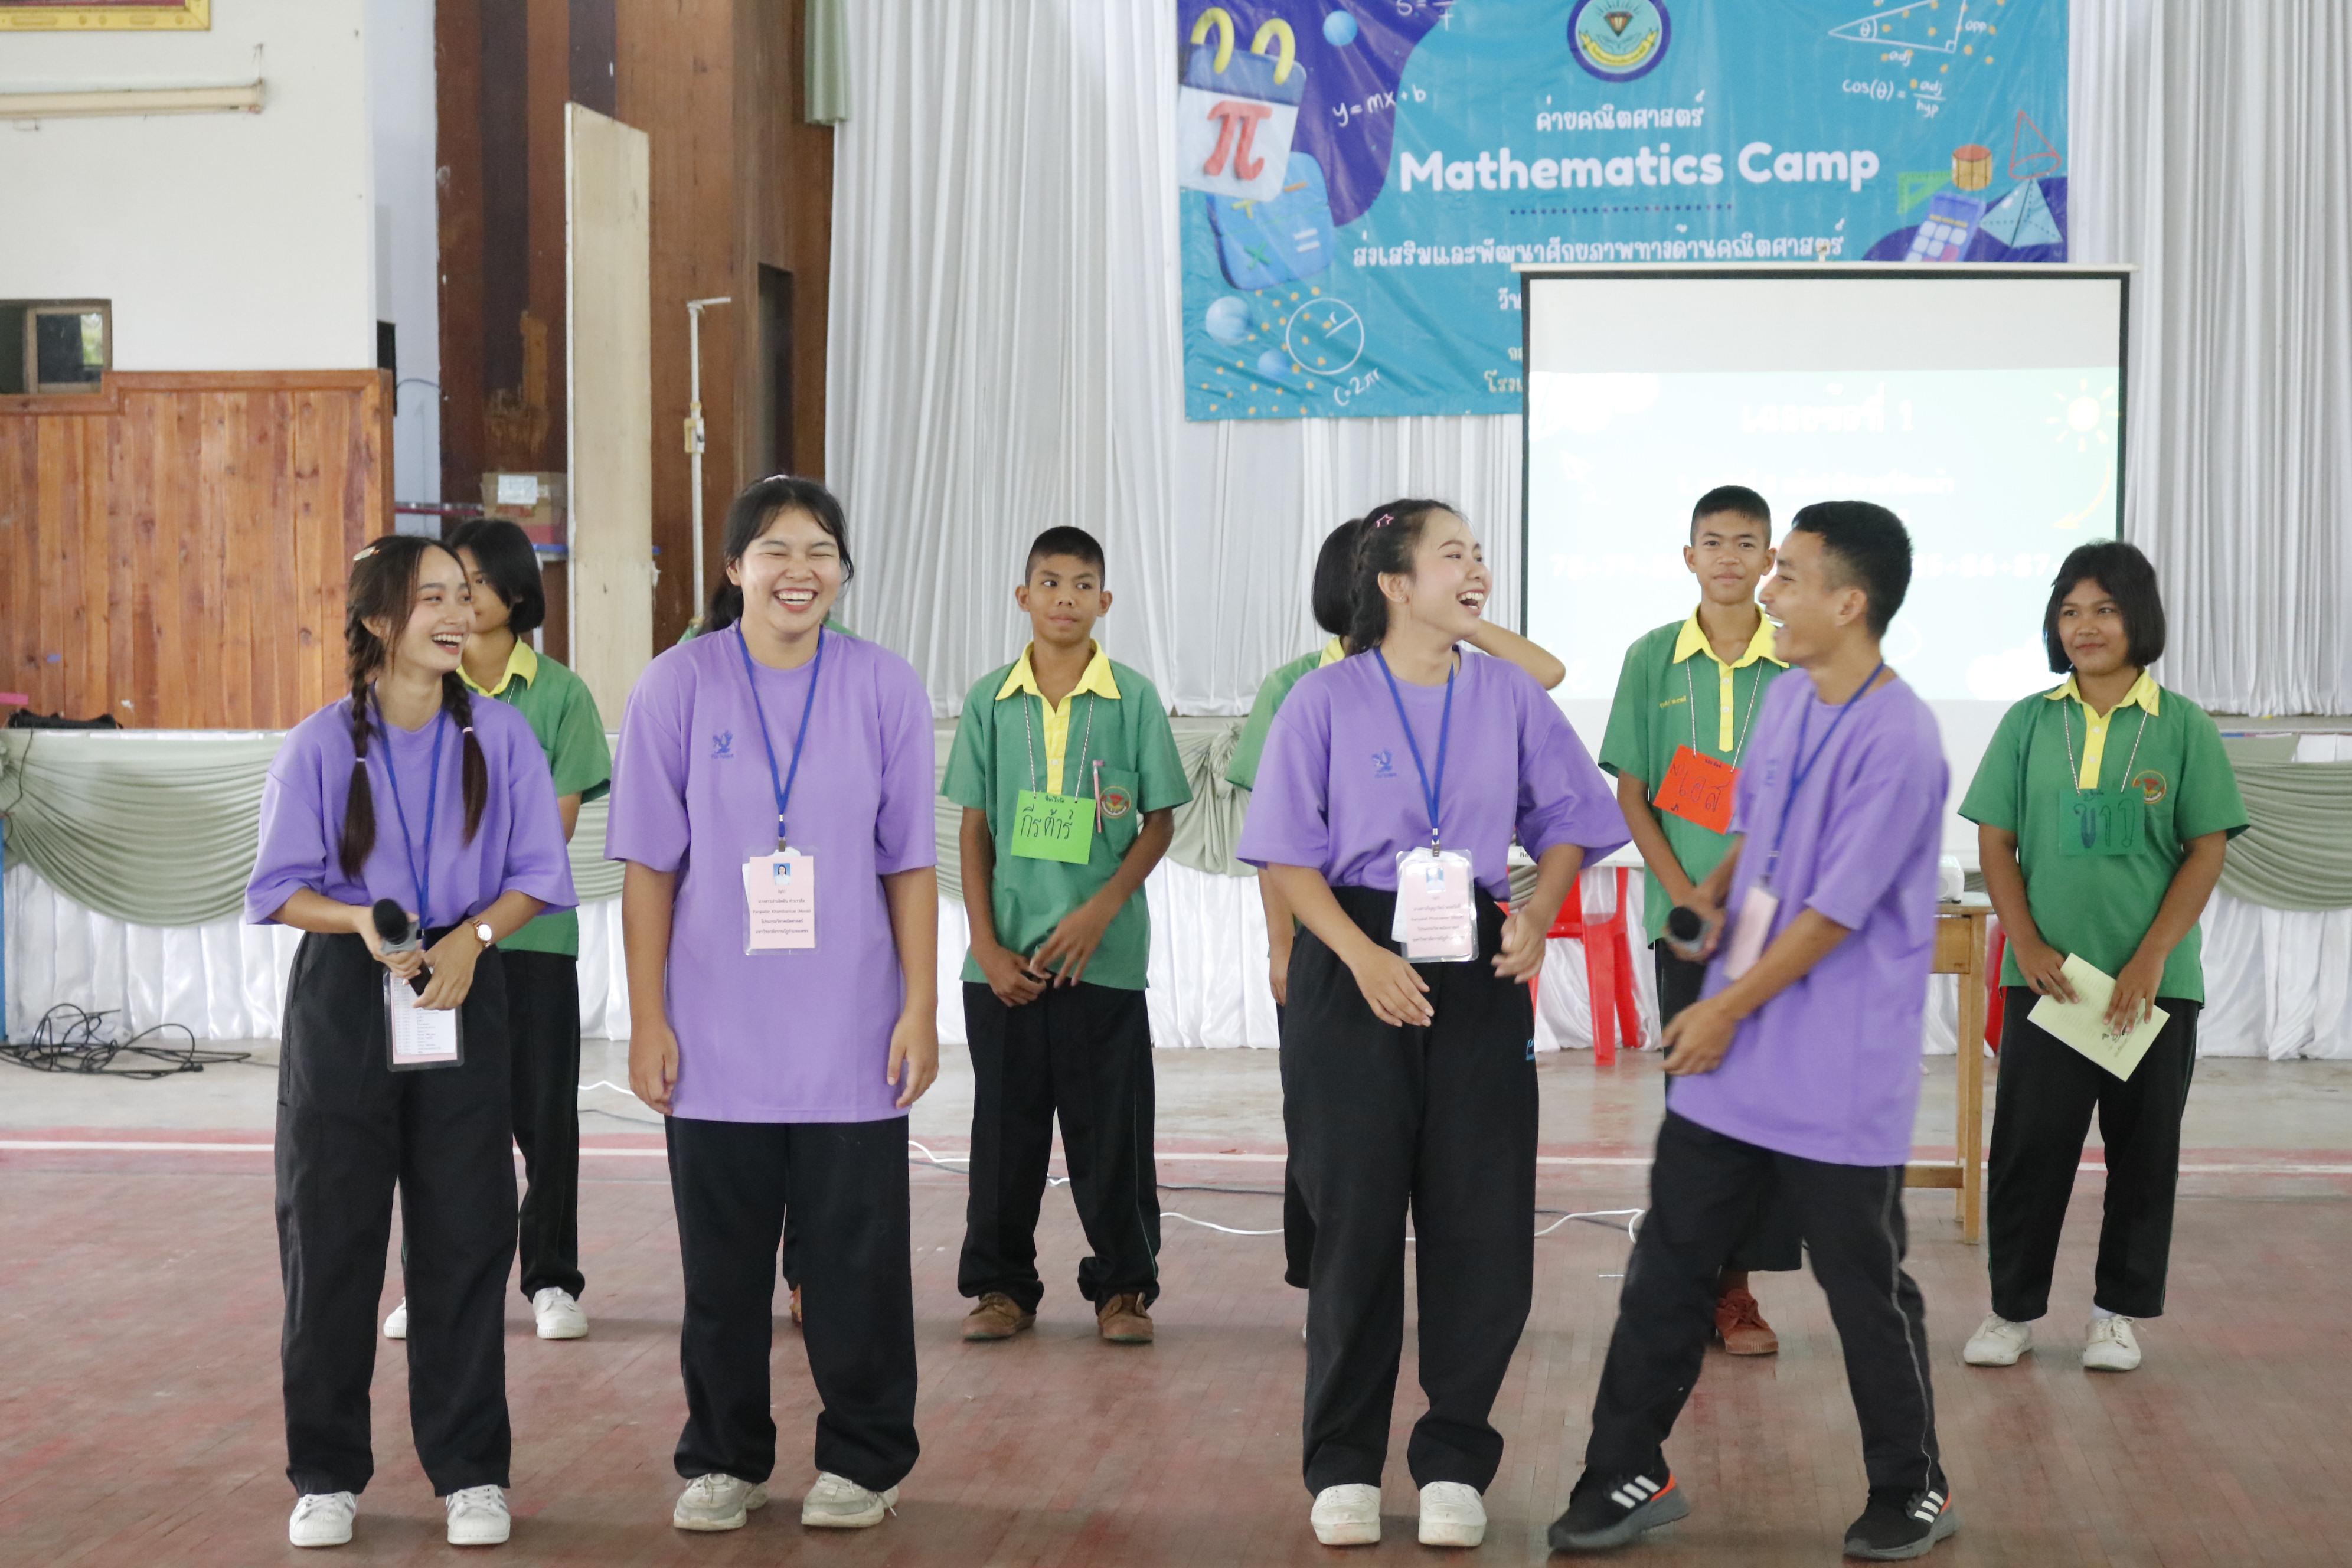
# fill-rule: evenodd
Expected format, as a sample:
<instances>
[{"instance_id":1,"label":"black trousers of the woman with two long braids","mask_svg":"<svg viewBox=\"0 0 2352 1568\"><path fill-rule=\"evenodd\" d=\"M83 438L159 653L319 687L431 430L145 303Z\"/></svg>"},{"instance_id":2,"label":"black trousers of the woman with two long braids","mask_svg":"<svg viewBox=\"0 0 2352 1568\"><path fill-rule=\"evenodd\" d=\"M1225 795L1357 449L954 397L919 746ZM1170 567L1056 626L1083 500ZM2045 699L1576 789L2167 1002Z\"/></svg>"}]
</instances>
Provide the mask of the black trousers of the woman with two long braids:
<instances>
[{"instance_id":1,"label":"black trousers of the woman with two long braids","mask_svg":"<svg viewBox=\"0 0 2352 1568\"><path fill-rule=\"evenodd\" d=\"M426 936L428 945L442 931ZM383 966L358 936L306 936L278 1058L278 1265L287 1479L360 1493L376 1472L367 1385L393 1187L409 1293L409 1429L437 1495L506 1486L506 1269L515 1260L503 957L459 1011L466 1060L393 1072Z\"/></svg>"}]
</instances>

